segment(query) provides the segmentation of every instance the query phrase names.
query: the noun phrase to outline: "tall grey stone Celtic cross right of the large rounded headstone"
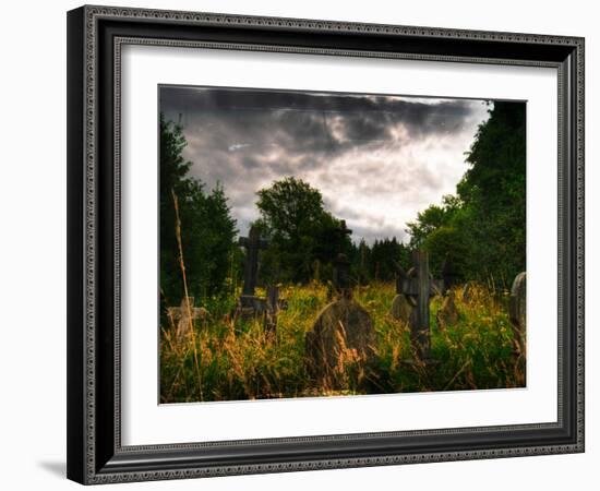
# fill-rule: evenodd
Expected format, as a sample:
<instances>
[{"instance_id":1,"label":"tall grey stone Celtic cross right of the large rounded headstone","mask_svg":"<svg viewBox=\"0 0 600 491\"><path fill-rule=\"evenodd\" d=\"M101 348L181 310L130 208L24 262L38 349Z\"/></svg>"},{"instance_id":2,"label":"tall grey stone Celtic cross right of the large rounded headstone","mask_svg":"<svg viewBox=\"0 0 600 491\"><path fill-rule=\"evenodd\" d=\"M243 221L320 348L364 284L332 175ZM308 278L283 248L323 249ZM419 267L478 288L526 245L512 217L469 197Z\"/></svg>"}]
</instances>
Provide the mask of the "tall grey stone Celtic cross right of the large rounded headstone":
<instances>
[{"instance_id":1,"label":"tall grey stone Celtic cross right of the large rounded headstone","mask_svg":"<svg viewBox=\"0 0 600 491\"><path fill-rule=\"evenodd\" d=\"M427 361L430 358L431 348L429 302L432 296L444 291L444 282L432 278L425 251L413 251L412 264L409 272L398 279L397 287L401 294L411 299L415 306L410 314L410 338L420 361Z\"/></svg>"}]
</instances>

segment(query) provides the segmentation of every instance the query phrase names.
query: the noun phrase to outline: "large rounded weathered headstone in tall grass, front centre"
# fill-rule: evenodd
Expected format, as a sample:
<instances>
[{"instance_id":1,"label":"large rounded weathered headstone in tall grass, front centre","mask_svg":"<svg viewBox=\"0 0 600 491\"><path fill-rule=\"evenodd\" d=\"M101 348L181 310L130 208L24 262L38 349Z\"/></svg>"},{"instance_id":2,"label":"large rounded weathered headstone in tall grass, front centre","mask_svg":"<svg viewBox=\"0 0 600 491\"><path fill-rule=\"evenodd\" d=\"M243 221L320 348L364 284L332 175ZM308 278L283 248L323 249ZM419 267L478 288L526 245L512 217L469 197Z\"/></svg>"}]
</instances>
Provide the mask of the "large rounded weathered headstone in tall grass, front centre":
<instances>
[{"instance_id":1,"label":"large rounded weathered headstone in tall grass, front centre","mask_svg":"<svg viewBox=\"0 0 600 491\"><path fill-rule=\"evenodd\" d=\"M369 370L375 360L374 345L375 330L369 312L357 301L341 297L321 311L307 333L307 371L320 386L346 388L345 362Z\"/></svg>"}]
</instances>

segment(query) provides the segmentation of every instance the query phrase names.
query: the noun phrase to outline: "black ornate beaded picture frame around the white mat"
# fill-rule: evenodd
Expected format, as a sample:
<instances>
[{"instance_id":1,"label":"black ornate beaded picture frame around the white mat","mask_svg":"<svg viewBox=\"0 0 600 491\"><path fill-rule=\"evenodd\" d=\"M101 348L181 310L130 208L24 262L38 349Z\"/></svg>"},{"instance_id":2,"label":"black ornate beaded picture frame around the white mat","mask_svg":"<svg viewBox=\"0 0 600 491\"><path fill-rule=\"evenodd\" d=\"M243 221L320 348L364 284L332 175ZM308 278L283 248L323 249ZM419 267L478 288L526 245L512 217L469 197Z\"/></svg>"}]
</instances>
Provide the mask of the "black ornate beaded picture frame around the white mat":
<instances>
[{"instance_id":1,"label":"black ornate beaded picture frame around the white mat","mask_svg":"<svg viewBox=\"0 0 600 491\"><path fill-rule=\"evenodd\" d=\"M123 44L556 68L557 421L122 446L119 84ZM68 13L68 93L69 478L101 483L584 451L583 38L83 7Z\"/></svg>"}]
</instances>

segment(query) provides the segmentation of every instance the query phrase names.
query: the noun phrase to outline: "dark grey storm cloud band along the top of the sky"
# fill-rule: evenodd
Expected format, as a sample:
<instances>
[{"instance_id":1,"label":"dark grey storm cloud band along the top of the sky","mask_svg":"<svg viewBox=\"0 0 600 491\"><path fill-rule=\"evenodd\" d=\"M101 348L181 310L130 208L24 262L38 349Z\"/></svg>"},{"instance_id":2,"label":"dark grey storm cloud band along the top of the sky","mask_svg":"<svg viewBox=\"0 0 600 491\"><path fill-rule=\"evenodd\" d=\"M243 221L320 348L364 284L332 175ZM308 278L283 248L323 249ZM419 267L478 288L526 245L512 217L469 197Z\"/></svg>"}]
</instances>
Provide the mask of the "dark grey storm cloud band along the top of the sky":
<instances>
[{"instance_id":1,"label":"dark grey storm cloud band along the top of the sky","mask_svg":"<svg viewBox=\"0 0 600 491\"><path fill-rule=\"evenodd\" d=\"M386 140L398 123L409 137L456 131L472 113L472 101L466 99L428 104L376 95L176 86L161 87L160 106L176 121L180 115L188 123L220 120L228 127L228 132L220 133L225 139L239 131L252 139L276 130L288 145L327 153L348 143Z\"/></svg>"}]
</instances>

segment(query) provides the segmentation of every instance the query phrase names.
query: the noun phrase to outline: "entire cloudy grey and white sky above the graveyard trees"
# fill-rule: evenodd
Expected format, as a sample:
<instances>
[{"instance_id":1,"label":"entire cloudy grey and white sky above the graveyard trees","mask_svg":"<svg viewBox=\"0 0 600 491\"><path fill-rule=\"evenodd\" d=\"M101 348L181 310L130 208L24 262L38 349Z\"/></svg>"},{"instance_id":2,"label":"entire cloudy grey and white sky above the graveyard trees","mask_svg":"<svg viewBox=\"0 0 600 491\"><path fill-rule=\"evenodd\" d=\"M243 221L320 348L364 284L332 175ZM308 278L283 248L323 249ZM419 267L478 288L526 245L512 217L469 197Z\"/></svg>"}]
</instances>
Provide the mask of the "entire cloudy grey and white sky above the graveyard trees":
<instances>
[{"instance_id":1,"label":"entire cloudy grey and white sky above the graveyard trees","mask_svg":"<svg viewBox=\"0 0 600 491\"><path fill-rule=\"evenodd\" d=\"M286 176L319 189L352 240L408 240L406 223L454 193L483 100L161 86L190 173L225 188L242 235L256 191Z\"/></svg>"}]
</instances>

